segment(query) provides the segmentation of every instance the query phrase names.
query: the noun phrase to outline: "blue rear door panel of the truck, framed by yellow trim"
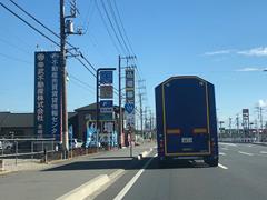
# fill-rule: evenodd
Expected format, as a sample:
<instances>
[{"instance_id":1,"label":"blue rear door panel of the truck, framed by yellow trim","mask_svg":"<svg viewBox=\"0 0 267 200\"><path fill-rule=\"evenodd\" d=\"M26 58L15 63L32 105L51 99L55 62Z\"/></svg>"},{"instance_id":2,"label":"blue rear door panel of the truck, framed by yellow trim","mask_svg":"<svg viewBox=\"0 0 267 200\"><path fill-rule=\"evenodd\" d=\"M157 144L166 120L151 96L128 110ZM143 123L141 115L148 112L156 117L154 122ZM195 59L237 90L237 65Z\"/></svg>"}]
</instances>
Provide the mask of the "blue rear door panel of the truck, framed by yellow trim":
<instances>
[{"instance_id":1,"label":"blue rear door panel of the truck, framed by yellow trim","mask_svg":"<svg viewBox=\"0 0 267 200\"><path fill-rule=\"evenodd\" d=\"M210 153L207 82L174 78L162 84L166 156Z\"/></svg>"}]
</instances>

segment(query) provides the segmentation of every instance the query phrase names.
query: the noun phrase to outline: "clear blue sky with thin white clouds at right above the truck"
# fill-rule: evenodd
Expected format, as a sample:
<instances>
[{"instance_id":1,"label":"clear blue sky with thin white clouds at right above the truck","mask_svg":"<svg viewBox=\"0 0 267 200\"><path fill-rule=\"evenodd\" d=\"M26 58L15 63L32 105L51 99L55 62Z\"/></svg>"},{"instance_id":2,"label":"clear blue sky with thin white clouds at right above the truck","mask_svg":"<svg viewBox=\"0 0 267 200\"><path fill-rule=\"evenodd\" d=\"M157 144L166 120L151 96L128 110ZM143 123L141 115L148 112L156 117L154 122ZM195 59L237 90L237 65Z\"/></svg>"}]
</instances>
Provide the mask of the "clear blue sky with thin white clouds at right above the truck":
<instances>
[{"instance_id":1,"label":"clear blue sky with thin white clouds at right above the truck","mask_svg":"<svg viewBox=\"0 0 267 200\"><path fill-rule=\"evenodd\" d=\"M96 1L77 1L80 16L75 24L85 30L88 28L88 31L85 36L70 36L69 41L79 47L96 67L117 67L119 52L105 29ZM97 1L101 6L100 0ZM9 0L1 2L21 14ZM59 1L16 2L59 32ZM107 0L103 2L107 4ZM116 2L138 57L140 76L146 79L146 104L152 110L154 88L170 76L180 74L196 74L215 84L218 117L221 120L234 118L243 108L251 109L254 117L254 107L258 101L263 100L261 104L265 106L267 73L263 69L267 68L267 1ZM0 23L0 111L31 112L33 52L55 50L57 47L2 8ZM75 59L68 60L68 72L95 88L93 77ZM80 86L73 79L69 81L69 110L93 101L92 89Z\"/></svg>"}]
</instances>

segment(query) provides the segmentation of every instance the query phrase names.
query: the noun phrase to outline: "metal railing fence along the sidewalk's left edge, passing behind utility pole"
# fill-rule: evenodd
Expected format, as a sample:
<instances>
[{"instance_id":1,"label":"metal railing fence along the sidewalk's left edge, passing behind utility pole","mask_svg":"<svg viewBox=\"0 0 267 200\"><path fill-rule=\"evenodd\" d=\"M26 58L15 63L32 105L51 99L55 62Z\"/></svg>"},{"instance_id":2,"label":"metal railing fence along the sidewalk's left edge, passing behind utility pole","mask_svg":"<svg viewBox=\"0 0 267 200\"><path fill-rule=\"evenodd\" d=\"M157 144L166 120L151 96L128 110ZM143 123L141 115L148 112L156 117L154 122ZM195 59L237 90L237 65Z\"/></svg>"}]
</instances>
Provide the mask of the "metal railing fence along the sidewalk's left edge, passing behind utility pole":
<instances>
[{"instance_id":1,"label":"metal railing fence along the sidewalk's left edge, passing behind utility pole","mask_svg":"<svg viewBox=\"0 0 267 200\"><path fill-rule=\"evenodd\" d=\"M102 151L103 149L99 149ZM97 152L96 148L75 148L68 158ZM0 139L0 160L18 164L21 162L47 162L62 159L61 144L55 138Z\"/></svg>"}]
</instances>

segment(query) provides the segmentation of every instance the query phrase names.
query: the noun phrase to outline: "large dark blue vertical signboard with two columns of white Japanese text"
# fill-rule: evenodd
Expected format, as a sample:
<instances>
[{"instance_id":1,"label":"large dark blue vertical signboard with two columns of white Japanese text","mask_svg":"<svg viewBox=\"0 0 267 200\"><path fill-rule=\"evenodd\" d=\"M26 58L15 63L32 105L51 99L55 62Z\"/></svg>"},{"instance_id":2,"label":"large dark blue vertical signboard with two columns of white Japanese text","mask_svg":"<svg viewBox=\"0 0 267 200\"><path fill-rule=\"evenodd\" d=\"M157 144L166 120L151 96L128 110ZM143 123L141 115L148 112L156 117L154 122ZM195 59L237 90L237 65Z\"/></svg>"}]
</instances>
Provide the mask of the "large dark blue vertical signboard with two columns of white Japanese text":
<instances>
[{"instance_id":1,"label":"large dark blue vertical signboard with two columns of white Japanese text","mask_svg":"<svg viewBox=\"0 0 267 200\"><path fill-rule=\"evenodd\" d=\"M61 77L58 51L36 52L34 131L61 140Z\"/></svg>"}]
</instances>

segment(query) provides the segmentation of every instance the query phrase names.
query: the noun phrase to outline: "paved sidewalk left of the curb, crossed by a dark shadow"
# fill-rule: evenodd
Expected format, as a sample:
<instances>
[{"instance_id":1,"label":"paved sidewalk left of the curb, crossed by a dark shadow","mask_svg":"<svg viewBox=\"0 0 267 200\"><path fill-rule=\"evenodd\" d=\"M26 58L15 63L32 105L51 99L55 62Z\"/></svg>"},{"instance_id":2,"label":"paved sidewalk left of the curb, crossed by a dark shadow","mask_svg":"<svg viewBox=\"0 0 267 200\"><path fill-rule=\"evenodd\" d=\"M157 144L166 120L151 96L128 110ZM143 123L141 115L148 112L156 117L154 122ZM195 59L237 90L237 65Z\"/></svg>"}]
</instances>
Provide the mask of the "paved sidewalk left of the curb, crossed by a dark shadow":
<instances>
[{"instance_id":1,"label":"paved sidewalk left of the curb, crossed by a dark shadow","mask_svg":"<svg viewBox=\"0 0 267 200\"><path fill-rule=\"evenodd\" d=\"M134 157L154 147L155 143L135 147ZM129 148L112 150L50 163L44 170L0 176L0 193L7 200L57 199L98 176L110 176L120 169L127 170L132 162L129 153Z\"/></svg>"}]
</instances>

